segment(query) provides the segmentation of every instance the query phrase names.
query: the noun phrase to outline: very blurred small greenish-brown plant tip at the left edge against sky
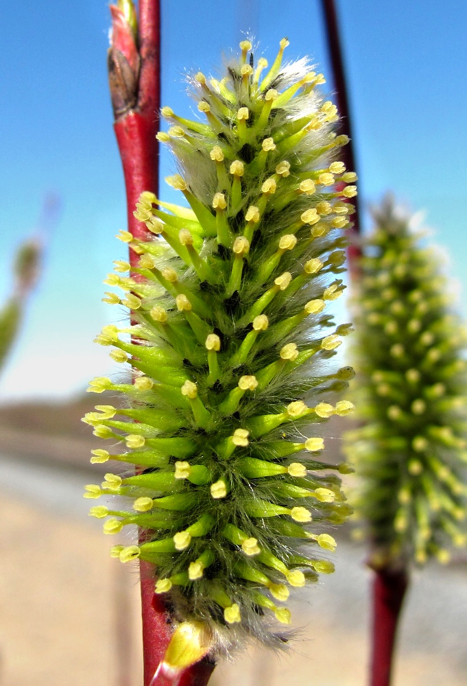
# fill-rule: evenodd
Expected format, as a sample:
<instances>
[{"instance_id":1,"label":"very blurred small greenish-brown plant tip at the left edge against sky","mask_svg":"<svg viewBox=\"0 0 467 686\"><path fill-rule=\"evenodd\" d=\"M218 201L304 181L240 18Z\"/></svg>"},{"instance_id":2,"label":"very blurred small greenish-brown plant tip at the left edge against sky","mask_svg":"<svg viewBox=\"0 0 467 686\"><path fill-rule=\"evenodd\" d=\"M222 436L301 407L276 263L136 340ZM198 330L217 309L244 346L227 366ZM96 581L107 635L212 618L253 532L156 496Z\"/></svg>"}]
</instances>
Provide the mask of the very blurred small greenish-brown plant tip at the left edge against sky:
<instances>
[{"instance_id":1,"label":"very blurred small greenish-brown plant tip at the left edge against sky","mask_svg":"<svg viewBox=\"0 0 467 686\"><path fill-rule=\"evenodd\" d=\"M0 310L0 368L18 335L27 297L38 276L39 259L40 244L35 239L25 241L16 253L12 295Z\"/></svg>"}]
</instances>

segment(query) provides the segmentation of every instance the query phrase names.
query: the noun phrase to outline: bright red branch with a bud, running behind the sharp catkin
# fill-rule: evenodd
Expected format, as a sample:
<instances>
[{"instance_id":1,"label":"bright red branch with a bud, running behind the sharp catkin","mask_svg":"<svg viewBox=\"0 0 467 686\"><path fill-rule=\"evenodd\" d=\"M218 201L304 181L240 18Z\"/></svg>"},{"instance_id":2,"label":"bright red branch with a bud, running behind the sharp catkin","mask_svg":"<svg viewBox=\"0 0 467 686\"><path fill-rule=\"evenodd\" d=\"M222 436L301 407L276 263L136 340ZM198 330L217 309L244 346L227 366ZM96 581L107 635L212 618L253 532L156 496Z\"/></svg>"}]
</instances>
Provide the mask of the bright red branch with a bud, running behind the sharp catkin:
<instances>
[{"instance_id":1,"label":"bright red branch with a bud, running behind the sharp catkin","mask_svg":"<svg viewBox=\"0 0 467 686\"><path fill-rule=\"evenodd\" d=\"M130 40L131 43L131 40ZM115 117L115 136L123 165L127 201L128 230L134 237L144 239L147 229L136 220L133 211L143 191L158 192L158 113L160 109L160 3L158 0L139 1L139 57L140 71L137 80L136 102L131 98L133 75L128 78L125 62L125 40L110 49L110 87L117 84L119 106ZM112 53L113 51L113 53ZM130 70L131 71L131 70ZM130 87L128 86L130 84ZM128 93L130 98L128 99ZM124 104L128 102L128 108ZM115 107L115 100L114 100ZM139 260L130 250L130 264ZM141 533L144 536L144 532ZM154 678L159 663L171 638L171 615L163 599L154 593L156 569L154 565L140 562L141 611L143 619L144 686L206 686L214 669L208 660L189 667L173 678L160 675Z\"/></svg>"}]
</instances>

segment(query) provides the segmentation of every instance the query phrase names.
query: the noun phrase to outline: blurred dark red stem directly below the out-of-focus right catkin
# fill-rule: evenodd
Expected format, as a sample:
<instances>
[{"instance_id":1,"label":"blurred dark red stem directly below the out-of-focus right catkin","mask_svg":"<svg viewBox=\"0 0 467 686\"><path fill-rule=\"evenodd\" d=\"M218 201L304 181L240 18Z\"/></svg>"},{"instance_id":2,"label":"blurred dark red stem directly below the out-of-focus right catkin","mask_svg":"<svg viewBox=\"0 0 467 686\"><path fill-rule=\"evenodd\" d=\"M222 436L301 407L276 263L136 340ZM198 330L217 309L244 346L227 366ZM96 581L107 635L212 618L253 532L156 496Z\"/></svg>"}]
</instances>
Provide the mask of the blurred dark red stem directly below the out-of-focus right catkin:
<instances>
[{"instance_id":1,"label":"blurred dark red stem directly below the out-of-focus right catkin","mask_svg":"<svg viewBox=\"0 0 467 686\"><path fill-rule=\"evenodd\" d=\"M373 585L373 652L370 686L390 686L394 643L407 572L378 569Z\"/></svg>"}]
</instances>

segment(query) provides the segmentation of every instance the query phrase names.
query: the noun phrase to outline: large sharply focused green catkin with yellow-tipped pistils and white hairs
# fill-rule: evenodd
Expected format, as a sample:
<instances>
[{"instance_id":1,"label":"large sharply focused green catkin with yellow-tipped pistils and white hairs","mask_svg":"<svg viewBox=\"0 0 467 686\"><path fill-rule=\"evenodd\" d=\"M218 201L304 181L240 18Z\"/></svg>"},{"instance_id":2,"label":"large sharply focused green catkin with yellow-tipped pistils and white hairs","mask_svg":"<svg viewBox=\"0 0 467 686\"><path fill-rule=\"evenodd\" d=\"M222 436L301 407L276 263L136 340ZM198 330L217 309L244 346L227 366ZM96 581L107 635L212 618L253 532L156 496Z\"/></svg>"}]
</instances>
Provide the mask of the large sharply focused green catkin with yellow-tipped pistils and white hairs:
<instances>
[{"instance_id":1,"label":"large sharply focused green catkin with yellow-tipped pistils and white hairs","mask_svg":"<svg viewBox=\"0 0 467 686\"><path fill-rule=\"evenodd\" d=\"M123 409L98 405L84 418L112 443L93 462L141 472L86 486L86 497L129 503L91 510L112 516L106 533L150 530L112 554L156 563L156 593L179 622L208 627L214 652L248 637L282 644L274 622L290 613L276 601L333 569L320 558L335 547L322 528L351 512L339 466L320 462L319 425L352 409L328 402L352 369L327 365L350 327L322 311L344 289L355 174L337 161L347 139L315 89L322 75L306 60L283 67L287 45L263 80L248 41L221 82L197 73L206 123L163 108L171 126L158 139L180 171L167 182L189 209L143 193L135 216L154 236L121 232L141 256L139 277L122 276L129 265L118 261L106 283L124 295L104 300L130 308L134 324L105 327L97 342L132 366L134 385L95 379L89 390L123 393Z\"/></svg>"}]
</instances>

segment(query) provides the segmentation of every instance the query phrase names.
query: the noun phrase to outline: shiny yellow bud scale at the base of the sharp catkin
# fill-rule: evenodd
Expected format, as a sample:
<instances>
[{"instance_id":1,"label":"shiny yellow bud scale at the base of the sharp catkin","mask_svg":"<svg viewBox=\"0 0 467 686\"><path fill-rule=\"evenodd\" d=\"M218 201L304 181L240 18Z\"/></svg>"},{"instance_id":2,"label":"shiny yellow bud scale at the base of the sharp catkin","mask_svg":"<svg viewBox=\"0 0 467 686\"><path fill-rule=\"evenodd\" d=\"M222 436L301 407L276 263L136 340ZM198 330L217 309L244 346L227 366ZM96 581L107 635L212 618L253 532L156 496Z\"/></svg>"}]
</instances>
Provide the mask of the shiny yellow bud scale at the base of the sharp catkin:
<instances>
[{"instance_id":1,"label":"shiny yellow bud scale at the base of the sharp catkin","mask_svg":"<svg viewBox=\"0 0 467 686\"><path fill-rule=\"evenodd\" d=\"M182 622L173 632L165 651L162 670L178 674L199 662L212 648L213 634L204 622Z\"/></svg>"}]
</instances>

